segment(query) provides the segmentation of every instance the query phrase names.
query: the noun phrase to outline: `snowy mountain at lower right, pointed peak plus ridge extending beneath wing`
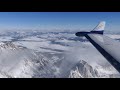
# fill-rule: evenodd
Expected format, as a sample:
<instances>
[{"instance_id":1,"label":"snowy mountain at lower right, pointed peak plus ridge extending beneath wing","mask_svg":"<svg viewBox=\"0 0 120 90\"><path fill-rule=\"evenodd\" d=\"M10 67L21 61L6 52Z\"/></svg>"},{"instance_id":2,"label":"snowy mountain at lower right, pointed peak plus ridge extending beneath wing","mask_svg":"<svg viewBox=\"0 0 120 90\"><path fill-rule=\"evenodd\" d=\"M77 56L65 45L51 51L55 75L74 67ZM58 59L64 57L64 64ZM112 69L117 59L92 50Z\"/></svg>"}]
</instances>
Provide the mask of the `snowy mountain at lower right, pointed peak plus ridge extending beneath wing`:
<instances>
[{"instance_id":1,"label":"snowy mountain at lower right, pointed peak plus ridge extending beneath wing","mask_svg":"<svg viewBox=\"0 0 120 90\"><path fill-rule=\"evenodd\" d=\"M93 68L87 62L80 60L70 70L69 78L120 78L119 73L112 72L112 67L109 67L111 69L106 69L106 67L98 66ZM103 70L104 73L100 71L100 69Z\"/></svg>"}]
</instances>

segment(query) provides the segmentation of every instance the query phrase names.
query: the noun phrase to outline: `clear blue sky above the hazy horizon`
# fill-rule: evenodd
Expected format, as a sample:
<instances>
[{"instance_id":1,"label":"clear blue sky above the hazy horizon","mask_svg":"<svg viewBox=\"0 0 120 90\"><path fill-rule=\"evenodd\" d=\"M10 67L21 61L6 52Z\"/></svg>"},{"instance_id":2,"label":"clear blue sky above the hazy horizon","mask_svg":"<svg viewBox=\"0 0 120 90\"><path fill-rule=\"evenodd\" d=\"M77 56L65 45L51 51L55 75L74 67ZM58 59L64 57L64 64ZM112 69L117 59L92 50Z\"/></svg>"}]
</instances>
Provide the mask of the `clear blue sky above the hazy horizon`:
<instances>
[{"instance_id":1,"label":"clear blue sky above the hazy horizon","mask_svg":"<svg viewBox=\"0 0 120 90\"><path fill-rule=\"evenodd\" d=\"M0 30L91 30L106 21L106 30L120 31L120 12L0 12Z\"/></svg>"}]
</instances>

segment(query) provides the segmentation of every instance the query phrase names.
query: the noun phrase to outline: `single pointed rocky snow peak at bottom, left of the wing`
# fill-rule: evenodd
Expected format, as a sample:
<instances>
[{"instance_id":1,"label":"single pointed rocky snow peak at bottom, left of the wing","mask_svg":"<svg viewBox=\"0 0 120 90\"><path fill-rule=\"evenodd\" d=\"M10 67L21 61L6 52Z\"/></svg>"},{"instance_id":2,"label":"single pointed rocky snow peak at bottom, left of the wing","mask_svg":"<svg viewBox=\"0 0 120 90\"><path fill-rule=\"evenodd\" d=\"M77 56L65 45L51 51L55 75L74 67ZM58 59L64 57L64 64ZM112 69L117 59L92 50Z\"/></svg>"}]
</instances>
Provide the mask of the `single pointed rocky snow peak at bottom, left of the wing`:
<instances>
[{"instance_id":1,"label":"single pointed rocky snow peak at bottom, left of the wing","mask_svg":"<svg viewBox=\"0 0 120 90\"><path fill-rule=\"evenodd\" d=\"M79 76L84 78L92 78L92 77L98 77L98 72L97 70L93 69L93 67L90 66L87 62L80 60L70 71L70 75L75 75L75 76L69 76L69 77Z\"/></svg>"}]
</instances>

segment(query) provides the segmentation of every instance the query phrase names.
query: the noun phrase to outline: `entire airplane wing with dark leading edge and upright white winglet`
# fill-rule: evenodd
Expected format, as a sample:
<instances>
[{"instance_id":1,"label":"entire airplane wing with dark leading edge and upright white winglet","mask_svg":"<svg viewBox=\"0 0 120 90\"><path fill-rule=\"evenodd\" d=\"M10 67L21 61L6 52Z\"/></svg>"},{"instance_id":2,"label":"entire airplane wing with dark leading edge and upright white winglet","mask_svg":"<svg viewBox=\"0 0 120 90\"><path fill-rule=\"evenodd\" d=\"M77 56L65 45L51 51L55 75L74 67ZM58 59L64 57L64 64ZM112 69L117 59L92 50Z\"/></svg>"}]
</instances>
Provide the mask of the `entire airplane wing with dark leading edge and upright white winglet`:
<instances>
[{"instance_id":1,"label":"entire airplane wing with dark leading edge and upright white winglet","mask_svg":"<svg viewBox=\"0 0 120 90\"><path fill-rule=\"evenodd\" d=\"M120 73L120 42L103 35L104 27L105 22L100 22L91 32L77 32L76 36L85 36Z\"/></svg>"}]
</instances>

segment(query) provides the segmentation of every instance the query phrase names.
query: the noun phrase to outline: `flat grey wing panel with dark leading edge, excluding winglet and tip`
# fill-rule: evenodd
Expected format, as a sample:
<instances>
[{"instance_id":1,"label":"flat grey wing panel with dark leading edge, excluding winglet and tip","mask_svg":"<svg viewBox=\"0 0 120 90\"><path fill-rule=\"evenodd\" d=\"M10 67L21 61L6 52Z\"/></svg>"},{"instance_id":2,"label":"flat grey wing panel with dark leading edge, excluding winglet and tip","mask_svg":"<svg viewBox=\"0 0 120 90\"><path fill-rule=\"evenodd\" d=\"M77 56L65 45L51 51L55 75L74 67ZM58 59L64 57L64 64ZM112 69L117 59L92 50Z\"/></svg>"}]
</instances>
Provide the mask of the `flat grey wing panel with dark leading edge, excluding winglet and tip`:
<instances>
[{"instance_id":1,"label":"flat grey wing panel with dark leading edge, excluding winglet and tip","mask_svg":"<svg viewBox=\"0 0 120 90\"><path fill-rule=\"evenodd\" d=\"M87 34L85 37L120 72L120 42L100 34Z\"/></svg>"}]
</instances>

